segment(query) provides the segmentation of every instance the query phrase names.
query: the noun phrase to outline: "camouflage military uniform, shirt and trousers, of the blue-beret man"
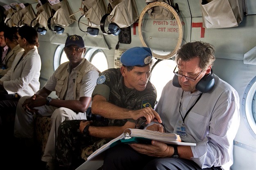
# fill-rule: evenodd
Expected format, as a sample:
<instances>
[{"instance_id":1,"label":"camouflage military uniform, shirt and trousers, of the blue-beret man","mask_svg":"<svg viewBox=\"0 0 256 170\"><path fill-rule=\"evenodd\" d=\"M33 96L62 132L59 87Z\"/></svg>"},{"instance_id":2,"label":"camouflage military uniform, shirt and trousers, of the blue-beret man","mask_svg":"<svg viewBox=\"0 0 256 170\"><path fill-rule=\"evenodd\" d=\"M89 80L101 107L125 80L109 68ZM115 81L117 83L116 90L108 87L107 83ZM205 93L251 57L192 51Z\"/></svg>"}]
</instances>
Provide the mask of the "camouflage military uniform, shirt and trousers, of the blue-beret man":
<instances>
[{"instance_id":1,"label":"camouflage military uniform, shirt and trousers, of the blue-beret man","mask_svg":"<svg viewBox=\"0 0 256 170\"><path fill-rule=\"evenodd\" d=\"M156 89L148 81L145 90L128 89L123 84L123 76L120 69L107 69L100 73L97 85L92 96L104 96L109 103L129 110L140 110L144 107L153 107L156 103ZM127 119L108 119L108 126L125 125ZM72 160L81 159L81 149L92 145L86 150L86 157L92 154L105 143L112 139L99 139L93 136L84 137L79 130L81 120L64 121L59 126L57 137L57 159L63 166L70 166ZM134 121L129 119L128 121ZM100 122L94 121L93 126L104 126ZM88 139L89 138L89 139Z\"/></svg>"}]
</instances>

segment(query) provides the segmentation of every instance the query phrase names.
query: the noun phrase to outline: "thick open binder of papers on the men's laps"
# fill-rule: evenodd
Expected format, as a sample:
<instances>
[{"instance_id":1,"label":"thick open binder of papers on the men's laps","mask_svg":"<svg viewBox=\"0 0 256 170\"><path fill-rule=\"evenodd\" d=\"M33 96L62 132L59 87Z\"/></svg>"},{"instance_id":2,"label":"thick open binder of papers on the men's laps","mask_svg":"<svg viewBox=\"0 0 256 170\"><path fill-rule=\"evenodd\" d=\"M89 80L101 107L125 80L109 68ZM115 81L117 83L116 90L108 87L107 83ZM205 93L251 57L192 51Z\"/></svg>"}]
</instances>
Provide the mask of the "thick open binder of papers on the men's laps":
<instances>
[{"instance_id":1,"label":"thick open binder of papers on the men's laps","mask_svg":"<svg viewBox=\"0 0 256 170\"><path fill-rule=\"evenodd\" d=\"M196 143L181 142L179 135L175 133L163 133L152 130L126 129L123 134L106 143L93 152L76 170L97 170L103 165L104 151L121 143L151 143L152 140L171 145L195 146Z\"/></svg>"}]
</instances>

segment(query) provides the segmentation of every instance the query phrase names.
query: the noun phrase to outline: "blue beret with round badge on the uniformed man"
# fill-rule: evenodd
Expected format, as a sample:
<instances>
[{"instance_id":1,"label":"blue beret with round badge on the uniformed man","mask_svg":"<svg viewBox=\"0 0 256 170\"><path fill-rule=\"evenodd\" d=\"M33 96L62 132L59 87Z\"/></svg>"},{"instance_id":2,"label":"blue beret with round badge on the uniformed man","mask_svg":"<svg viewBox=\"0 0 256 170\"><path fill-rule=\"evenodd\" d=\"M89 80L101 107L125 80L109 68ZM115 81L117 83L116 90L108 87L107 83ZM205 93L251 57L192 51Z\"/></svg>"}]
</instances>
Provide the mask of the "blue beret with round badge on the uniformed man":
<instances>
[{"instance_id":1,"label":"blue beret with round badge on the uniformed man","mask_svg":"<svg viewBox=\"0 0 256 170\"><path fill-rule=\"evenodd\" d=\"M148 47L132 47L127 49L120 57L120 62L125 66L144 67L152 59L152 51Z\"/></svg>"}]
</instances>

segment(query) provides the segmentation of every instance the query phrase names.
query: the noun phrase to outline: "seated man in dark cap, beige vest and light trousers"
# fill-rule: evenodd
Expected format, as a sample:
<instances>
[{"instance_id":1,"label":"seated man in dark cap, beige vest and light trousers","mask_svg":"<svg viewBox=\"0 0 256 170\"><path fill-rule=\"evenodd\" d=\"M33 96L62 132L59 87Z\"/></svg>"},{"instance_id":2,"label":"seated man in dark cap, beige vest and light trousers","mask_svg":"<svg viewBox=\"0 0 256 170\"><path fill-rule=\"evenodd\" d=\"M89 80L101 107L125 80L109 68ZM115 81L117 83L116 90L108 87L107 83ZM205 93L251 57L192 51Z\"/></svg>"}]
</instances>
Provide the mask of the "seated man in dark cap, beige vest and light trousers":
<instances>
[{"instance_id":1,"label":"seated man in dark cap, beige vest and light trousers","mask_svg":"<svg viewBox=\"0 0 256 170\"><path fill-rule=\"evenodd\" d=\"M52 162L56 159L55 143L60 123L86 119L85 112L91 107L91 94L100 73L84 58L86 48L81 36L68 36L64 51L69 61L59 65L36 94L20 98L14 125L14 136L32 143L34 114L51 116L51 130L42 157L50 169L54 168ZM57 99L49 97L52 91L56 91Z\"/></svg>"}]
</instances>

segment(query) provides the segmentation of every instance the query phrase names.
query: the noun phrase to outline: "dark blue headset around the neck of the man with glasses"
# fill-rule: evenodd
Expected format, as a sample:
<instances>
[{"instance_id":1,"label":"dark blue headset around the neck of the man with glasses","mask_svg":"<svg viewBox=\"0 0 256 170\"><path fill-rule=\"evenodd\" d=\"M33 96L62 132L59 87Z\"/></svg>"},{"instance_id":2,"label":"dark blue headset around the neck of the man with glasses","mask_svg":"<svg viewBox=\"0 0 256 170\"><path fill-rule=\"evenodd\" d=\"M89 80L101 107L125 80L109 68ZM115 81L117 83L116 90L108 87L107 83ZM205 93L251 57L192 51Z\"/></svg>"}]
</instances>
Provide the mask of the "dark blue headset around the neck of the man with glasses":
<instances>
[{"instance_id":1,"label":"dark blue headset around the neck of the man with glasses","mask_svg":"<svg viewBox=\"0 0 256 170\"><path fill-rule=\"evenodd\" d=\"M197 83L195 88L200 92L207 93L209 92L215 84L215 80L213 78L213 69L211 69L211 74L206 74L204 77ZM174 74L172 78L172 85L175 87L181 87L179 84L179 79L176 74Z\"/></svg>"}]
</instances>

